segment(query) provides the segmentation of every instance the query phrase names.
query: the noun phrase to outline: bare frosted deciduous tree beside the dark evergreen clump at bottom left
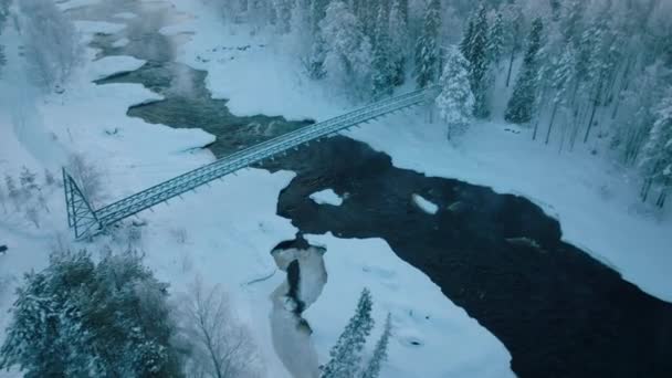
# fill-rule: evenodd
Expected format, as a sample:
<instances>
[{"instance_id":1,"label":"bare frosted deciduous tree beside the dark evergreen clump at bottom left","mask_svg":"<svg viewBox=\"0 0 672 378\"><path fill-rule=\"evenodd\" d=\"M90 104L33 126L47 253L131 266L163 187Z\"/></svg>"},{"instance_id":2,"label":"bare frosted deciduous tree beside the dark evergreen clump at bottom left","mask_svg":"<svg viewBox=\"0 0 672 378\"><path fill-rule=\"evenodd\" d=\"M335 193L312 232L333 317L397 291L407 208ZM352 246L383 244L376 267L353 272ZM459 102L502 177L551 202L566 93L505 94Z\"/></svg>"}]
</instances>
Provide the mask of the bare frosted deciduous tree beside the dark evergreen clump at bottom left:
<instances>
[{"instance_id":1,"label":"bare frosted deciduous tree beside the dark evergreen clump at bottom left","mask_svg":"<svg viewBox=\"0 0 672 378\"><path fill-rule=\"evenodd\" d=\"M204 287L200 279L180 301L182 343L189 349L191 377L259 377L261 358L249 329L235 318L219 285Z\"/></svg>"}]
</instances>

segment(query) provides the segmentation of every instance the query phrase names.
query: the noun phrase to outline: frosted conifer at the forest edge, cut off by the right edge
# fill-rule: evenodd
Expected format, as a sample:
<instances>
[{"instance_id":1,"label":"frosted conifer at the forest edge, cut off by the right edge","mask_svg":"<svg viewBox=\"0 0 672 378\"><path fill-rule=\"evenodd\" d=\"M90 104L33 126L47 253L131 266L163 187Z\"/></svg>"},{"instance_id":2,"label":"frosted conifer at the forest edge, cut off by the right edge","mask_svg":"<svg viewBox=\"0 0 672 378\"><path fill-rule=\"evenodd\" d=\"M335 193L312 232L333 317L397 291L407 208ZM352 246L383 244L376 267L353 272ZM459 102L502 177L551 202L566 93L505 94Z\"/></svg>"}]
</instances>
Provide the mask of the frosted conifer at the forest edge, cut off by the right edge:
<instances>
[{"instance_id":1,"label":"frosted conifer at the forest edge, cut off by the right edge","mask_svg":"<svg viewBox=\"0 0 672 378\"><path fill-rule=\"evenodd\" d=\"M641 165L645 172L642 200L647 200L652 183L658 181L662 190L657 204L662 208L672 185L672 90L657 107L655 122L644 146Z\"/></svg>"}]
</instances>

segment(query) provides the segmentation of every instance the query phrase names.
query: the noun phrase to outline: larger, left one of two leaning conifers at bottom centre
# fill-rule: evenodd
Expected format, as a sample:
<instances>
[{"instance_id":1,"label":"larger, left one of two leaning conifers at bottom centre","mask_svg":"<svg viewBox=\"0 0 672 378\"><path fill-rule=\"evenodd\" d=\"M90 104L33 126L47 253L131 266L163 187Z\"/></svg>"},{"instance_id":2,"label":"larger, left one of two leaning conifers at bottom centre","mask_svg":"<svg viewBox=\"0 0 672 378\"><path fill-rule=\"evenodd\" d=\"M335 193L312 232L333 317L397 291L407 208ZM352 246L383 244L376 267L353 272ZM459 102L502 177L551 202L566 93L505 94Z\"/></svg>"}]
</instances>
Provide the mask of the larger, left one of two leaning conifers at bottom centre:
<instances>
[{"instance_id":1,"label":"larger, left one of two leaning conifers at bottom centre","mask_svg":"<svg viewBox=\"0 0 672 378\"><path fill-rule=\"evenodd\" d=\"M359 371L361 350L374 328L371 293L361 292L355 315L348 322L338 342L329 351L329 361L322 369L322 378L353 378Z\"/></svg>"}]
</instances>

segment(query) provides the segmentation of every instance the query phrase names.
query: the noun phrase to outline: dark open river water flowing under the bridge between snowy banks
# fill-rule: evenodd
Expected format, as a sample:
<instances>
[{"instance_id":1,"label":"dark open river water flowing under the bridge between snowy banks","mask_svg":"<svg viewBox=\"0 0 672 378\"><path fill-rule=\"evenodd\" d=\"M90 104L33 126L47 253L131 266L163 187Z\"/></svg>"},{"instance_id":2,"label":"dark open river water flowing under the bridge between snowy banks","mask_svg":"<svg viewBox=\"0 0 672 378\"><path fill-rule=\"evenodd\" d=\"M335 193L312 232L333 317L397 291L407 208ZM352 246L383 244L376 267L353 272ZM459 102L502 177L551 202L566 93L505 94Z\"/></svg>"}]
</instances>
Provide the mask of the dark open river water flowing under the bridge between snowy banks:
<instances>
[{"instance_id":1,"label":"dark open river water flowing under the bridge between snowy banks","mask_svg":"<svg viewBox=\"0 0 672 378\"><path fill-rule=\"evenodd\" d=\"M120 3L115 2L116 12L137 8L133 1ZM77 9L73 15L108 21L103 14L115 13L109 7ZM127 46L112 48L116 38L107 35L93 42L103 55L148 61L98 84L140 83L166 96L132 107L128 115L202 128L217 136L209 148L218 157L307 124L237 117L225 101L210 98L206 72L175 63L175 41L157 32L174 13L157 2L151 17L123 21ZM177 86L176 77L185 74L189 91ZM389 156L347 137L311 144L261 167L297 175L280 195L280 216L304 233L385 239L504 343L519 377L672 377L672 305L563 242L558 222L531 201L396 168ZM308 199L327 188L348 195L342 206ZM439 204L439 212L420 211L413 193Z\"/></svg>"}]
</instances>

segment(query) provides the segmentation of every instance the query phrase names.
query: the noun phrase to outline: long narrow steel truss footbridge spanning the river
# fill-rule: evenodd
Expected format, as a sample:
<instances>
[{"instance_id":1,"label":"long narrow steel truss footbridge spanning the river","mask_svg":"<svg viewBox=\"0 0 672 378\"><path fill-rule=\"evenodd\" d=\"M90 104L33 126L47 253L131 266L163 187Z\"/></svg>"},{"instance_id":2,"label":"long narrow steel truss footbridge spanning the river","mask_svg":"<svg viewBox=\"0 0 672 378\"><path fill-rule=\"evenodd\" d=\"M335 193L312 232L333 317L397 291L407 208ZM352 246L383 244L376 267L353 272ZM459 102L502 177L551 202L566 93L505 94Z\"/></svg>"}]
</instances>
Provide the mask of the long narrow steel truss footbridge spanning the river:
<instances>
[{"instance_id":1,"label":"long narrow steel truss footbridge spanning the river","mask_svg":"<svg viewBox=\"0 0 672 378\"><path fill-rule=\"evenodd\" d=\"M93 237L125 218L166 202L210 181L221 179L242 168L261 162L292 148L297 148L303 144L330 137L350 127L428 103L435 97L437 92L435 87L414 91L363 106L325 122L298 128L225 156L207 166L164 181L101 209L94 209L91 206L76 180L63 169L67 225L73 230L76 239Z\"/></svg>"}]
</instances>

